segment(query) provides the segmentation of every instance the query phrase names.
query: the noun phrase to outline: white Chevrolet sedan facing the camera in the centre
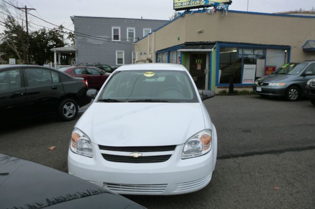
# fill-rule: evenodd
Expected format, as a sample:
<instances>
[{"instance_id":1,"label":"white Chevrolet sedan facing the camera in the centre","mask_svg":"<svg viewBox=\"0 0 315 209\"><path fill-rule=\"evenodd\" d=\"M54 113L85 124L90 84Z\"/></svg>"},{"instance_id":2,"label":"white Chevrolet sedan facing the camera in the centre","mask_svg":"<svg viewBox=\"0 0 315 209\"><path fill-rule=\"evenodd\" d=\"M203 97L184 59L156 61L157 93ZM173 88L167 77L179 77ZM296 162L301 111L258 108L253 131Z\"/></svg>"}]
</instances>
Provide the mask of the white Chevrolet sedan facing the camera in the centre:
<instances>
[{"instance_id":1,"label":"white Chevrolet sedan facing the camera in the centre","mask_svg":"<svg viewBox=\"0 0 315 209\"><path fill-rule=\"evenodd\" d=\"M217 132L188 71L176 64L118 68L75 125L70 174L119 194L175 195L211 180Z\"/></svg>"}]
</instances>

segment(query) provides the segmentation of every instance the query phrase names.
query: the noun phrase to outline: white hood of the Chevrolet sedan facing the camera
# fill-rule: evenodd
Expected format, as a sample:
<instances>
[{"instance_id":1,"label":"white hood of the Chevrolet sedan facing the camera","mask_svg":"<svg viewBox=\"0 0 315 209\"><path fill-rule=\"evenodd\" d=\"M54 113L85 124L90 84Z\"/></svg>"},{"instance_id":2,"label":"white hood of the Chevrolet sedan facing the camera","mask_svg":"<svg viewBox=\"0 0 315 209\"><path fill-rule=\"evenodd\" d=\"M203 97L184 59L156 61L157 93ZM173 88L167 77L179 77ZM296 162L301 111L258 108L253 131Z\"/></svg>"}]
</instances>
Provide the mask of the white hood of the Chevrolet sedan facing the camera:
<instances>
[{"instance_id":1,"label":"white hood of the Chevrolet sedan facing the camera","mask_svg":"<svg viewBox=\"0 0 315 209\"><path fill-rule=\"evenodd\" d=\"M199 103L93 103L76 126L105 146L179 145L205 129Z\"/></svg>"}]
</instances>

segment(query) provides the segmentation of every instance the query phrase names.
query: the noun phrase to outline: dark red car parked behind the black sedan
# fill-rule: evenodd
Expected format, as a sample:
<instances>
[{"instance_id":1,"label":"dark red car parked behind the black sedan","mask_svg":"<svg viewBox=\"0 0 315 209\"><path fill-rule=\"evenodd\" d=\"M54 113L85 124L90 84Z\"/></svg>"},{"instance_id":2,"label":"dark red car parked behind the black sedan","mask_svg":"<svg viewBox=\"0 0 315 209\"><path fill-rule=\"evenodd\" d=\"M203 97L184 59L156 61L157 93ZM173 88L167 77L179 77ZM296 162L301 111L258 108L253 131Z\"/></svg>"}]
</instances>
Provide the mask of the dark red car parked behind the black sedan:
<instances>
[{"instance_id":1,"label":"dark red car parked behind the black sedan","mask_svg":"<svg viewBox=\"0 0 315 209\"><path fill-rule=\"evenodd\" d=\"M59 71L72 77L84 78L87 81L89 88L95 89L100 89L110 75L95 67L64 67L59 69Z\"/></svg>"}]
</instances>

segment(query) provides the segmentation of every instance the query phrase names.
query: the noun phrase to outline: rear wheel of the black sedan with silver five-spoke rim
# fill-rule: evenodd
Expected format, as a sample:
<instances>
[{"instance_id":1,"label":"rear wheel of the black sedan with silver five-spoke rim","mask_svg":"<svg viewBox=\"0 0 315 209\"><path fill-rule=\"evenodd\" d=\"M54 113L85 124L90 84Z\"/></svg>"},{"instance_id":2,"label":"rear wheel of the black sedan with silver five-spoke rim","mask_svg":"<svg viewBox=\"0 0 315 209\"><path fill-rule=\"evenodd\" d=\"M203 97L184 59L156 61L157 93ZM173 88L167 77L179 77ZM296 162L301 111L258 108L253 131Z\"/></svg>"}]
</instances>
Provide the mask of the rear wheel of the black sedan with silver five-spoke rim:
<instances>
[{"instance_id":1,"label":"rear wheel of the black sedan with silver five-spoke rim","mask_svg":"<svg viewBox=\"0 0 315 209\"><path fill-rule=\"evenodd\" d=\"M64 99L58 106L58 117L62 121L71 121L78 115L79 106L73 99Z\"/></svg>"}]
</instances>

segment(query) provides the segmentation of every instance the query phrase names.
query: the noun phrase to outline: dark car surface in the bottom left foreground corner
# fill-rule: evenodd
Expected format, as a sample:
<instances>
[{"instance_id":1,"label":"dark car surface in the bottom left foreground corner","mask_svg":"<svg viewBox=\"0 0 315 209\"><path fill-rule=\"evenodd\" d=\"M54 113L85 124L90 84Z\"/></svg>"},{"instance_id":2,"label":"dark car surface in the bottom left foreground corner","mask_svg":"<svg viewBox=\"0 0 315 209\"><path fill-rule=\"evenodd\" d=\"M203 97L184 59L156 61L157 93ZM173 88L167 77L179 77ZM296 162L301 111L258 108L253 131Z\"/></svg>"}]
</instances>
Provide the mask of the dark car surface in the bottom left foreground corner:
<instances>
[{"instance_id":1,"label":"dark car surface in the bottom left foreground corner","mask_svg":"<svg viewBox=\"0 0 315 209\"><path fill-rule=\"evenodd\" d=\"M93 183L31 161L0 154L0 209L139 209Z\"/></svg>"}]
</instances>

